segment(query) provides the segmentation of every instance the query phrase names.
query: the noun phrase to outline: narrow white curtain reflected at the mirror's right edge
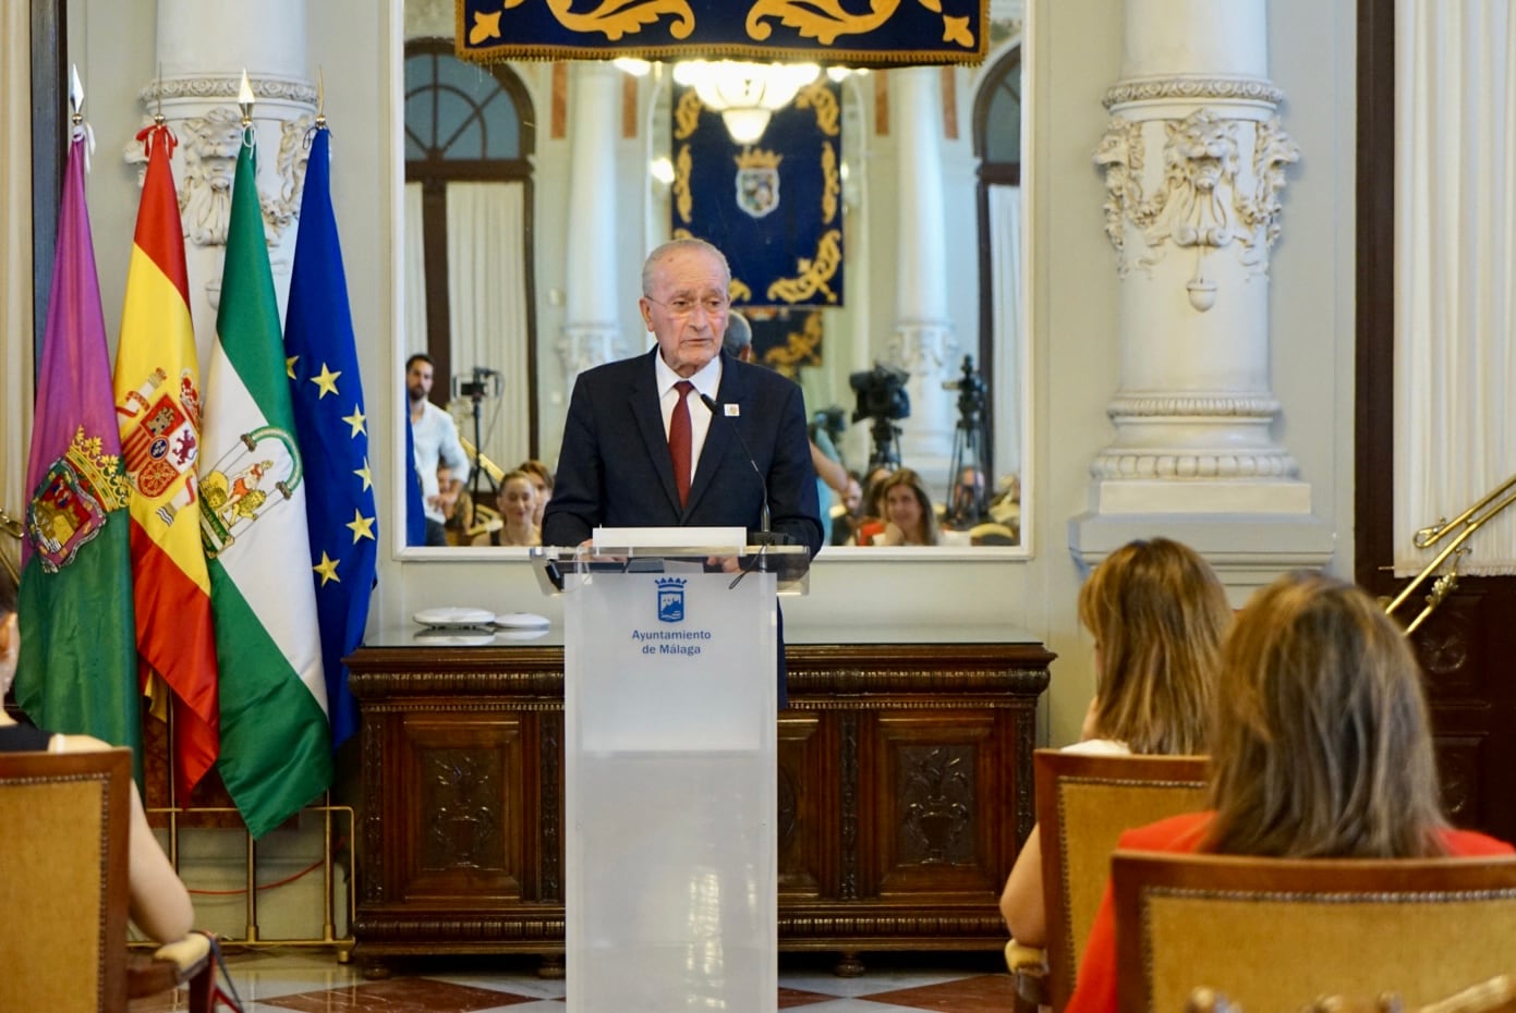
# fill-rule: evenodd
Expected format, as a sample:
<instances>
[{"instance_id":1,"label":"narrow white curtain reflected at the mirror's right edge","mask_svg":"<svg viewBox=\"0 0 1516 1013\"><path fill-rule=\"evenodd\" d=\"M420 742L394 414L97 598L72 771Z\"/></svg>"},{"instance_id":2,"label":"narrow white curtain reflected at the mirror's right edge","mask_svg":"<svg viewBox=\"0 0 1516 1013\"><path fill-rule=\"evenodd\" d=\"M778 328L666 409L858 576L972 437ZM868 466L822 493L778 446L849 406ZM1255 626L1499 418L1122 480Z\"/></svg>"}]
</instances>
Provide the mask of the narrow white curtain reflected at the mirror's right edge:
<instances>
[{"instance_id":1,"label":"narrow white curtain reflected at the mirror's right edge","mask_svg":"<svg viewBox=\"0 0 1516 1013\"><path fill-rule=\"evenodd\" d=\"M990 186L990 301L994 333L994 376L985 377L994 392L994 475L1022 475L1022 403L1026 376L1022 341L1022 188Z\"/></svg>"}]
</instances>

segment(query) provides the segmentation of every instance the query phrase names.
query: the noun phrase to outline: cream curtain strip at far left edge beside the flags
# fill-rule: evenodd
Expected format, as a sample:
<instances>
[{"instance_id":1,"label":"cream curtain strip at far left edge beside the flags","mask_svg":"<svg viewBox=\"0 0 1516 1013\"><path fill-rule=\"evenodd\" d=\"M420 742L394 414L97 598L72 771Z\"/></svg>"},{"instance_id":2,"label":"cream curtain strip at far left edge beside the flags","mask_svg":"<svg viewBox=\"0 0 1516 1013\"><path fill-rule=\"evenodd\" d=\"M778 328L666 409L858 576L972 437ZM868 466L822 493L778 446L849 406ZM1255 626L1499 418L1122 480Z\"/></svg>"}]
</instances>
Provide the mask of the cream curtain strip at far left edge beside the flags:
<instances>
[{"instance_id":1,"label":"cream curtain strip at far left edge beside the flags","mask_svg":"<svg viewBox=\"0 0 1516 1013\"><path fill-rule=\"evenodd\" d=\"M32 438L32 26L24 3L0 5L0 507L26 506L26 453ZM17 545L5 539L9 559Z\"/></svg>"}]
</instances>

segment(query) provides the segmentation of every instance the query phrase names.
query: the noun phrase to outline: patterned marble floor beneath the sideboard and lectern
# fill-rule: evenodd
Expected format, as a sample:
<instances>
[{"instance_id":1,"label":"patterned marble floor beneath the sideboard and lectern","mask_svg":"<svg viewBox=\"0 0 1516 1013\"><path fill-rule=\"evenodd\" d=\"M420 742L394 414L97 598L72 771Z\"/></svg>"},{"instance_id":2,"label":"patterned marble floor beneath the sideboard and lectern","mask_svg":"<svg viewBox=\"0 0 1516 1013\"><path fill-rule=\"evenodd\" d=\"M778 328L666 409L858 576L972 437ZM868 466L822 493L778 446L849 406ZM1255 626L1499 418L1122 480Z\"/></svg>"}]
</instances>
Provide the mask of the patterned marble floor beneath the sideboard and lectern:
<instances>
[{"instance_id":1,"label":"patterned marble floor beneath the sideboard and lectern","mask_svg":"<svg viewBox=\"0 0 1516 1013\"><path fill-rule=\"evenodd\" d=\"M864 954L869 969L838 978L819 955L779 957L779 1008L803 1013L1002 1013L1011 978L1001 954ZM227 952L244 1013L562 1013L564 983L535 962L475 958L399 963L365 981L323 951ZM183 993L132 1002L130 1013L183 1010ZM617 1013L597 1010L596 1013Z\"/></svg>"}]
</instances>

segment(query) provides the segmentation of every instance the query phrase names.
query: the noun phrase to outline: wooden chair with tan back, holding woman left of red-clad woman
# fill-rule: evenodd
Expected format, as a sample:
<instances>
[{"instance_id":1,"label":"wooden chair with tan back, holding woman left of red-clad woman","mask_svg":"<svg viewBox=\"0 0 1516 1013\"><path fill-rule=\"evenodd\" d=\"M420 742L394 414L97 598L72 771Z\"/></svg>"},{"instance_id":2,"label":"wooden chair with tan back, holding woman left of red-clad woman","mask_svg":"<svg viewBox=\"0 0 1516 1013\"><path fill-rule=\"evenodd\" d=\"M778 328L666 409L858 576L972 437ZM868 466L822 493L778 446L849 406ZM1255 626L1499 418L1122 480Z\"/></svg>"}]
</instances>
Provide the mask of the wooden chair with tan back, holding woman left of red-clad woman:
<instances>
[{"instance_id":1,"label":"wooden chair with tan back, holding woman left of red-clad woman","mask_svg":"<svg viewBox=\"0 0 1516 1013\"><path fill-rule=\"evenodd\" d=\"M1046 1005L1057 1013L1067 1005L1116 839L1123 830L1204 809L1205 768L1204 756L1032 754L1048 946L1037 951L1013 942L1007 948L1017 1007Z\"/></svg>"}]
</instances>

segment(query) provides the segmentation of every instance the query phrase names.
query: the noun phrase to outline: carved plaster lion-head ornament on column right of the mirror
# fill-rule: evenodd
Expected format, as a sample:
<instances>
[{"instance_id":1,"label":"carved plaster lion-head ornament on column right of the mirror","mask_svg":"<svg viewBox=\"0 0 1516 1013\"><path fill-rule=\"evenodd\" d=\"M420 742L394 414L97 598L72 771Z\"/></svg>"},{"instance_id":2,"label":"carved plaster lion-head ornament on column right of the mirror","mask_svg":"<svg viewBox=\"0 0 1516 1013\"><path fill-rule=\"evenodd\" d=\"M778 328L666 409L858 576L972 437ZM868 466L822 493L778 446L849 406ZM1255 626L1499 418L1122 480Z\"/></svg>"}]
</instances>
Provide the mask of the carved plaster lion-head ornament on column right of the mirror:
<instances>
[{"instance_id":1,"label":"carved plaster lion-head ornament on column right of the mirror","mask_svg":"<svg viewBox=\"0 0 1516 1013\"><path fill-rule=\"evenodd\" d=\"M1210 253L1236 244L1245 266L1267 273L1267 251L1280 235L1284 167L1301 154L1276 117L1257 123L1202 108L1163 123L1163 185L1152 197L1143 188L1143 124L1114 117L1107 127L1095 153L1105 170L1105 235L1120 277L1158 263L1170 245L1193 248L1186 289L1190 306L1205 312L1216 304L1216 283L1205 271ZM1240 173L1248 139L1251 180Z\"/></svg>"}]
</instances>

